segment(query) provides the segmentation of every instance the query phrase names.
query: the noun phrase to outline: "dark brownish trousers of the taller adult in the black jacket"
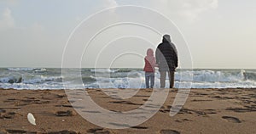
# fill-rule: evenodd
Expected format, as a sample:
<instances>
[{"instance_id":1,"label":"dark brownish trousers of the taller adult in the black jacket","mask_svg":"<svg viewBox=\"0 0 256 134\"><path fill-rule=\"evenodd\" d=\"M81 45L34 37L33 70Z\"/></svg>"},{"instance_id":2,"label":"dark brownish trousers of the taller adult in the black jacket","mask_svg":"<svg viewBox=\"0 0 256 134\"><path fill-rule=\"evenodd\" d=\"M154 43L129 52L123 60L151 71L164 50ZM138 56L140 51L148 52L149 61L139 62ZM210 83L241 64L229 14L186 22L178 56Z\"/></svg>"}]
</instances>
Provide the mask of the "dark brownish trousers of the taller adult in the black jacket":
<instances>
[{"instance_id":1,"label":"dark brownish trousers of the taller adult in the black jacket","mask_svg":"<svg viewBox=\"0 0 256 134\"><path fill-rule=\"evenodd\" d=\"M174 86L174 71L160 71L160 88L166 87L166 72L168 72L170 88L172 88Z\"/></svg>"}]
</instances>

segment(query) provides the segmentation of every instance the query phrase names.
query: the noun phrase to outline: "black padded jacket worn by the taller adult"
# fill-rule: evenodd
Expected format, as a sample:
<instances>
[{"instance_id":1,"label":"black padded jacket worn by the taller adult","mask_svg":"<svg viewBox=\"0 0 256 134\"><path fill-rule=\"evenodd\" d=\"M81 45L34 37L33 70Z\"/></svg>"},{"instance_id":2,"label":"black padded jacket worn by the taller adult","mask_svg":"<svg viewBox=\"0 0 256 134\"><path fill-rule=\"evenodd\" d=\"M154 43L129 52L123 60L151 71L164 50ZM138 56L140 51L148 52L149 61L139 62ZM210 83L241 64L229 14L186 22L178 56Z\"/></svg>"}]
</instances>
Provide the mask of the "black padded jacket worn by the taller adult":
<instances>
[{"instance_id":1,"label":"black padded jacket worn by the taller adult","mask_svg":"<svg viewBox=\"0 0 256 134\"><path fill-rule=\"evenodd\" d=\"M171 40L170 40L171 41ZM177 68L177 49L172 42L163 38L163 42L158 45L155 51L156 64L159 70L175 71Z\"/></svg>"}]
</instances>

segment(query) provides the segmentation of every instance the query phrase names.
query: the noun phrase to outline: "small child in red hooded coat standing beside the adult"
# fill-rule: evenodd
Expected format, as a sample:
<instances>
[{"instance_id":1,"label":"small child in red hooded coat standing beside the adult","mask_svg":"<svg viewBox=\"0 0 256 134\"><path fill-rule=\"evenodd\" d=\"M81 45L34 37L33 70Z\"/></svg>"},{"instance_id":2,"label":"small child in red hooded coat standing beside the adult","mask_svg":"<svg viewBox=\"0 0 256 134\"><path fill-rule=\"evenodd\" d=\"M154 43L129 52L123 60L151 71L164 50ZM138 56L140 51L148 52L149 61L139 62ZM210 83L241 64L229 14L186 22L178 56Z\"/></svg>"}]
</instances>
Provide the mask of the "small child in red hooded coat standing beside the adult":
<instances>
[{"instance_id":1,"label":"small child in red hooded coat standing beside the adult","mask_svg":"<svg viewBox=\"0 0 256 134\"><path fill-rule=\"evenodd\" d=\"M145 57L145 81L146 81L146 88L154 88L154 67L157 66L154 59L154 51L151 48L147 50L147 56ZM149 87L150 81L150 87Z\"/></svg>"}]
</instances>

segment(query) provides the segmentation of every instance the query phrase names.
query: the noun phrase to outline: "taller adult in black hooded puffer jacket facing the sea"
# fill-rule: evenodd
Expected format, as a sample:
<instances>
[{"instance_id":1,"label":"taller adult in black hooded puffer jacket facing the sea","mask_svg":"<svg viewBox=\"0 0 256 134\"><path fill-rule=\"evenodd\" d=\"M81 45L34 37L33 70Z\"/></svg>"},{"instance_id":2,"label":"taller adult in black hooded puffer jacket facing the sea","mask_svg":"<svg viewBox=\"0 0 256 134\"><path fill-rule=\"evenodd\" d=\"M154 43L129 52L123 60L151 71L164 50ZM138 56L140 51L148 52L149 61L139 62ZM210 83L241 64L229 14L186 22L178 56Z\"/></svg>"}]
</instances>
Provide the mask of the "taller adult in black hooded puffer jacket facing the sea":
<instances>
[{"instance_id":1,"label":"taller adult in black hooded puffer jacket facing the sea","mask_svg":"<svg viewBox=\"0 0 256 134\"><path fill-rule=\"evenodd\" d=\"M156 64L159 64L160 88L166 87L166 72L169 75L170 88L174 86L174 73L177 68L177 49L170 35L164 35L155 51Z\"/></svg>"}]
</instances>

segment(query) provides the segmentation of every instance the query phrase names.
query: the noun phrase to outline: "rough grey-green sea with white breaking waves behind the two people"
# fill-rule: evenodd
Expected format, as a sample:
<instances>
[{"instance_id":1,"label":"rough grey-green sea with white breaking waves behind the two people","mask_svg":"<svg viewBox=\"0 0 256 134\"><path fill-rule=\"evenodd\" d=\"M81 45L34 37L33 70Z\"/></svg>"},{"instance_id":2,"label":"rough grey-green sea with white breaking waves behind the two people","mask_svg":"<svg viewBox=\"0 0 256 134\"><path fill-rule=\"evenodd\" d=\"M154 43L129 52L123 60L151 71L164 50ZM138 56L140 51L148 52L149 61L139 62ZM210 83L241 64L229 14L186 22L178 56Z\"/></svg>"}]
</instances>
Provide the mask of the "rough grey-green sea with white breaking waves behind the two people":
<instances>
[{"instance_id":1,"label":"rough grey-green sea with white breaking waves behind the two people","mask_svg":"<svg viewBox=\"0 0 256 134\"><path fill-rule=\"evenodd\" d=\"M0 68L0 88L3 89L76 89L82 80L84 88L145 88L143 69L65 69L61 68ZM70 71L69 71L70 70ZM81 75L74 75L79 70ZM63 78L65 77L65 81ZM160 73L155 72L155 87L160 87ZM166 87L169 87L166 77ZM180 69L175 72L176 88L256 88L256 70Z\"/></svg>"}]
</instances>

